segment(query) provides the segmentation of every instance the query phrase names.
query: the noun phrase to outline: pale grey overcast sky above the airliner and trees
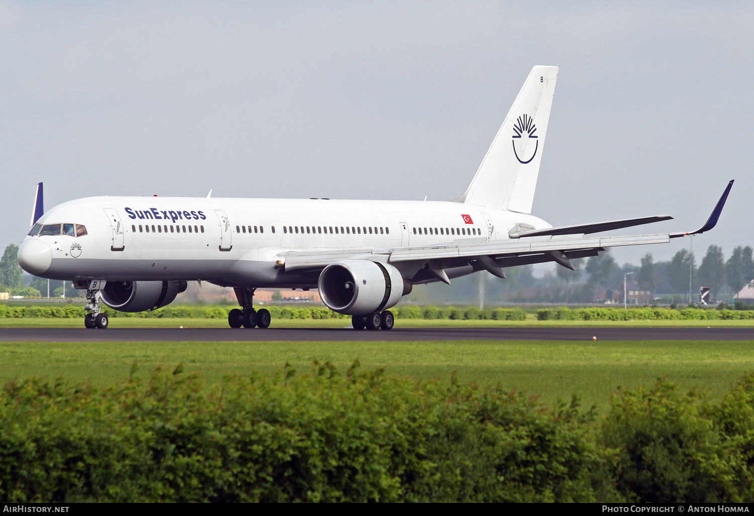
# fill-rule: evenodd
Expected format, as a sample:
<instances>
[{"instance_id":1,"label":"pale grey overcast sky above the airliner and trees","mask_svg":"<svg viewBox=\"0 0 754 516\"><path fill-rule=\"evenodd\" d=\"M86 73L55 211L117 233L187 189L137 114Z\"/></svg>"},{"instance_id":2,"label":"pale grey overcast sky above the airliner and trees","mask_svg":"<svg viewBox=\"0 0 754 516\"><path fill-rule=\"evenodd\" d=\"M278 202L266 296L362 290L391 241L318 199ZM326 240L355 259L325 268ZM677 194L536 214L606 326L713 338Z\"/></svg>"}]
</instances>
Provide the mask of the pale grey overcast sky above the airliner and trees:
<instances>
[{"instance_id":1,"label":"pale grey overcast sky above the airliner and trees","mask_svg":"<svg viewBox=\"0 0 754 516\"><path fill-rule=\"evenodd\" d=\"M751 2L0 1L0 246L28 231L39 181L48 208L447 200L532 66L558 65L533 213L688 231L735 179L694 238L728 256L754 246L752 61Z\"/></svg>"}]
</instances>

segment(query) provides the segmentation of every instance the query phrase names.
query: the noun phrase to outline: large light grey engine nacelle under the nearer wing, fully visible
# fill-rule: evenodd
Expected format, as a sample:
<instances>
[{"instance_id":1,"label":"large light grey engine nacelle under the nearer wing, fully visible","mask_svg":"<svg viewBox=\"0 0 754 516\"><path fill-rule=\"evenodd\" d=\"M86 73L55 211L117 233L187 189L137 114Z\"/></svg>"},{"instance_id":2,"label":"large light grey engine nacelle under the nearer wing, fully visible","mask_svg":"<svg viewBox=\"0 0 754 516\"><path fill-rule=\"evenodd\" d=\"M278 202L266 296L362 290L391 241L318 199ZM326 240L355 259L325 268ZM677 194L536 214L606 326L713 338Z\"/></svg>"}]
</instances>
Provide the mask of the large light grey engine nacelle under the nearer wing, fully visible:
<instances>
[{"instance_id":1,"label":"large light grey engine nacelle under the nearer wing, fully visible","mask_svg":"<svg viewBox=\"0 0 754 516\"><path fill-rule=\"evenodd\" d=\"M343 260L326 266L317 283L327 308L346 315L366 315L395 306L411 292L398 269L388 263Z\"/></svg>"}]
</instances>

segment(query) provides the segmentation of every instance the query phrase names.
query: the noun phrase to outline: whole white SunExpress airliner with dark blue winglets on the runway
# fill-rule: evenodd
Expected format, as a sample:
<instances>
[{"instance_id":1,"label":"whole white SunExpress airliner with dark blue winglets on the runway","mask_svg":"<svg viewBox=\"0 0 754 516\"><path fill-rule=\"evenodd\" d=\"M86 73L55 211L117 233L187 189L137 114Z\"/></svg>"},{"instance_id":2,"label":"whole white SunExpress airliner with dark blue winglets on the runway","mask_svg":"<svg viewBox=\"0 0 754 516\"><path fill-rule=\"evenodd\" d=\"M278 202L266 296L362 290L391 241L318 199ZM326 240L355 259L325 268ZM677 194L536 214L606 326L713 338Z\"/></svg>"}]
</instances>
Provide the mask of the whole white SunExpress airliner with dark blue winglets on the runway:
<instances>
[{"instance_id":1,"label":"whole white SunExpress airliner with dark blue winglets on the runway","mask_svg":"<svg viewBox=\"0 0 754 516\"><path fill-rule=\"evenodd\" d=\"M233 287L231 327L270 324L258 287L318 288L353 327L393 327L388 310L412 285L530 263L596 256L605 247L661 244L712 229L733 181L695 232L585 236L669 215L553 227L531 215L557 66L535 66L463 195L452 201L90 197L42 210L41 183L20 266L87 290L88 328L100 303L142 312L171 303L187 281ZM211 192L210 192L211 193Z\"/></svg>"}]
</instances>

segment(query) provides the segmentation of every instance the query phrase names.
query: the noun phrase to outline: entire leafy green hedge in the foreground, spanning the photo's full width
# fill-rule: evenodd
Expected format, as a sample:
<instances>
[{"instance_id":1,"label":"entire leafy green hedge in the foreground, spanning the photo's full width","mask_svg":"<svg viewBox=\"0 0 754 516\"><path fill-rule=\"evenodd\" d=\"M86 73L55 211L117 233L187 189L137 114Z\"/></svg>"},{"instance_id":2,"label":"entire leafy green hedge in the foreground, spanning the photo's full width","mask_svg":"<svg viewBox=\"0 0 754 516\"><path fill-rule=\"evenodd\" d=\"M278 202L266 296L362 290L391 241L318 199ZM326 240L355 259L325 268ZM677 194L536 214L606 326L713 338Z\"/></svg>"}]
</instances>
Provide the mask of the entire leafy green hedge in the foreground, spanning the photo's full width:
<instances>
[{"instance_id":1,"label":"entire leafy green hedge in the foreground, spanning the photo's full width","mask_svg":"<svg viewBox=\"0 0 754 516\"><path fill-rule=\"evenodd\" d=\"M182 366L109 389L0 389L2 502L746 502L754 375L719 403L657 381L593 425L574 398L345 374Z\"/></svg>"}]
</instances>

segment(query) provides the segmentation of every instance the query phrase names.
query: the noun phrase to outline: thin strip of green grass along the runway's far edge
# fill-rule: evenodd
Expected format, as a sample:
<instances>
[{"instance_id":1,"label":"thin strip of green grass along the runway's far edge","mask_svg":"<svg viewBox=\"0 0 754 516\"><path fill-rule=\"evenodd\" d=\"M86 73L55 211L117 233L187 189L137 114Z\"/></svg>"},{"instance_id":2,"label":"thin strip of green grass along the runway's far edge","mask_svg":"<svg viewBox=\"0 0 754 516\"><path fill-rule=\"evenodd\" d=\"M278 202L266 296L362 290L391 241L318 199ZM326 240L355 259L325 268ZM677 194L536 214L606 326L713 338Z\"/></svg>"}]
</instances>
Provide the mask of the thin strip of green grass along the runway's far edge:
<instances>
[{"instance_id":1,"label":"thin strip of green grass along the runway's far edge","mask_svg":"<svg viewBox=\"0 0 754 516\"><path fill-rule=\"evenodd\" d=\"M342 328L351 319L273 319L277 328ZM111 318L112 328L227 328L225 319ZM451 321L449 319L397 319L400 328L506 328L506 327L754 327L754 319L731 321ZM0 318L0 328L81 328L83 319Z\"/></svg>"}]
</instances>

